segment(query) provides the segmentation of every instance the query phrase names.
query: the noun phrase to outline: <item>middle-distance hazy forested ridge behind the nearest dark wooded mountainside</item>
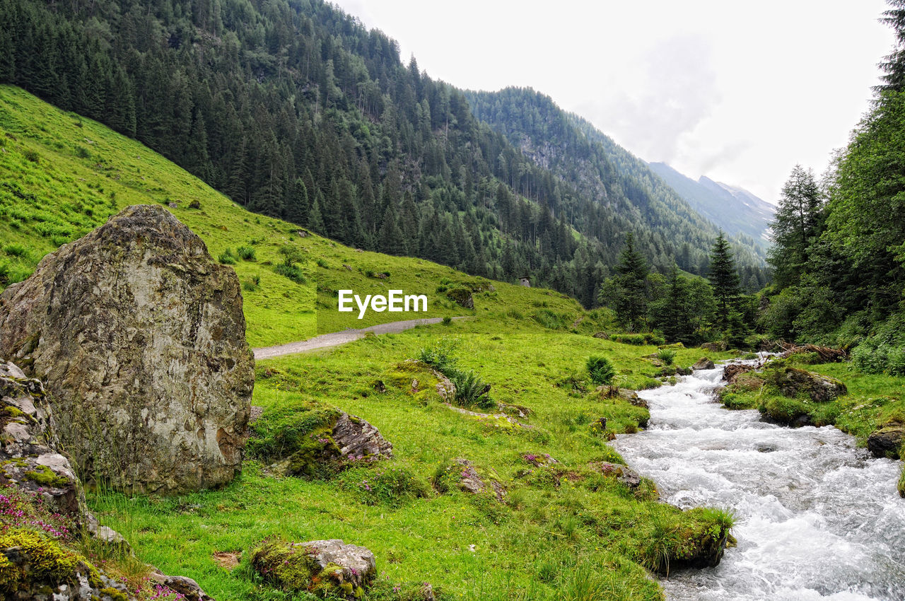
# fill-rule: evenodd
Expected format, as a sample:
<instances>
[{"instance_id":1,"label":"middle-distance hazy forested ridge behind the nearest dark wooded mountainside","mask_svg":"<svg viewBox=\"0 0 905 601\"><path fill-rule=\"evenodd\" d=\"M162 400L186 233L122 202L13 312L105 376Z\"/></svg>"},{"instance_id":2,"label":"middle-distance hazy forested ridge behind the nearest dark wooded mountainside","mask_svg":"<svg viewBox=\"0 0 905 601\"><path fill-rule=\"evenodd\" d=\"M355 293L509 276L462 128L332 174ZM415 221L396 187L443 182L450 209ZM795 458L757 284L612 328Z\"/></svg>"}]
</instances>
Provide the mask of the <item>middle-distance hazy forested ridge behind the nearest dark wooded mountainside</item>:
<instances>
[{"instance_id":1,"label":"middle-distance hazy forested ridge behind the nearest dark wooded mountainside","mask_svg":"<svg viewBox=\"0 0 905 601\"><path fill-rule=\"evenodd\" d=\"M633 221L679 241L649 256L655 269L668 272L674 257L682 270L707 274L707 241L717 236L714 224L722 224L712 215L702 217L697 207L664 183L643 160L538 91L506 88L466 91L465 95L475 117L500 131L535 163L574 183L579 194L598 198ZM530 194L529 189L519 192ZM742 283L749 291L759 290L768 281L763 269L765 250L738 228L727 231L733 236Z\"/></svg>"}]
</instances>

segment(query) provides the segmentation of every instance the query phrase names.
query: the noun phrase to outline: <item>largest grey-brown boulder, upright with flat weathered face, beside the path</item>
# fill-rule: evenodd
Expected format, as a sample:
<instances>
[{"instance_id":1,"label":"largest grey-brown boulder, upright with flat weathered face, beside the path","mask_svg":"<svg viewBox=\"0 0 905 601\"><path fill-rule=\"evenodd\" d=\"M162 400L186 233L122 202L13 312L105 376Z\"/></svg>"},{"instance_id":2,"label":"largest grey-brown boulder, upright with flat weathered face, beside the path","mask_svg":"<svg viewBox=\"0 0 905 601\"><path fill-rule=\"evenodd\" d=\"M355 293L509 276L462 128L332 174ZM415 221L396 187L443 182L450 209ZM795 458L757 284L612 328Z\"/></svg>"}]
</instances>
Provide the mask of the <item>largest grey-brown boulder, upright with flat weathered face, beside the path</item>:
<instances>
[{"instance_id":1,"label":"largest grey-brown boulder, upright with flat weathered face, beside the path","mask_svg":"<svg viewBox=\"0 0 905 601\"><path fill-rule=\"evenodd\" d=\"M0 357L40 377L83 477L233 480L254 383L239 281L166 209L129 206L0 294Z\"/></svg>"}]
</instances>

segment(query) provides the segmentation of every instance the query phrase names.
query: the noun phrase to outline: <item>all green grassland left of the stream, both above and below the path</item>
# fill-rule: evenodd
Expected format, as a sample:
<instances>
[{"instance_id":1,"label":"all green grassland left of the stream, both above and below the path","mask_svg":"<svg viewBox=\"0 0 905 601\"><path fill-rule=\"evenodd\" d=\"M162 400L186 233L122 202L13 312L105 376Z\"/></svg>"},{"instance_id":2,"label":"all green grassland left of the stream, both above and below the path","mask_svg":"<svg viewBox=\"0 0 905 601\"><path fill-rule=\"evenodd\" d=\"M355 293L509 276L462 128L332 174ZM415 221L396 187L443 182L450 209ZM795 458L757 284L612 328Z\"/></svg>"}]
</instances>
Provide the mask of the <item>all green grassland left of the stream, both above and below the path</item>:
<instances>
[{"instance_id":1,"label":"all green grassland left of the stream, both above and below the path","mask_svg":"<svg viewBox=\"0 0 905 601\"><path fill-rule=\"evenodd\" d=\"M233 265L253 284L243 290L252 346L422 316L369 312L357 320L336 310L340 289L425 293L429 315L472 317L259 362L252 402L262 416L235 482L166 499L90 493L91 509L142 561L194 577L220 601L313 598L255 577L250 551L271 535L340 538L375 552L373 601L414 598L404 596L405 583L423 581L442 599L660 599L646 568L681 563L725 535L725 514L678 510L657 501L653 482L633 490L595 467L623 461L607 440L643 427L647 411L597 391L587 358L609 358L618 386L657 386L663 374L649 358L656 348L593 337L612 325L606 311L582 310L552 291L300 237L297 227L248 214L134 141L14 88L0 87L0 129L6 282L26 277L44 253L122 206L175 202L173 213L214 257L254 249L253 260ZM188 208L193 201L200 208ZM303 257L301 284L274 271L287 246ZM450 298L463 288L473 310ZM498 408L470 408L492 415L444 405L432 376L405 365L438 346L452 348L460 369L491 385ZM700 354L681 348L675 363L691 365ZM394 458L313 480L274 471L279 454L307 444L315 418L331 407L376 425L394 444ZM515 422L494 416L500 411ZM595 425L601 417L605 427ZM456 458L498 480L506 496L460 491ZM218 562L222 553L243 559L230 569ZM131 577L140 580L140 569Z\"/></svg>"}]
</instances>

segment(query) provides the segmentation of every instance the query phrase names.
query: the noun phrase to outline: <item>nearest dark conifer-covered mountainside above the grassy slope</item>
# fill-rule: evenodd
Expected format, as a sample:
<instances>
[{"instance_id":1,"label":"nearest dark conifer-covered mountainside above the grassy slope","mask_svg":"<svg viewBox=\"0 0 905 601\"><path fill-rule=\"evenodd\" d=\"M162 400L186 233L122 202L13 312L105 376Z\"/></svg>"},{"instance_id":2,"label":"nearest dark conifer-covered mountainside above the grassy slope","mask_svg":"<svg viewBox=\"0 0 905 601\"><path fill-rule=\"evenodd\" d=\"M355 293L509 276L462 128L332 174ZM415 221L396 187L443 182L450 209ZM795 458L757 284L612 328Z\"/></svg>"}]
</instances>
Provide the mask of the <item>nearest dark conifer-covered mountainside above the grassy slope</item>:
<instances>
[{"instance_id":1,"label":"nearest dark conifer-covered mountainside above the grassy slope","mask_svg":"<svg viewBox=\"0 0 905 601\"><path fill-rule=\"evenodd\" d=\"M694 272L715 236L612 168L595 196L538 164L385 34L319 0L9 0L0 20L0 81L342 243L527 272L590 306L626 232L654 265L687 255Z\"/></svg>"}]
</instances>

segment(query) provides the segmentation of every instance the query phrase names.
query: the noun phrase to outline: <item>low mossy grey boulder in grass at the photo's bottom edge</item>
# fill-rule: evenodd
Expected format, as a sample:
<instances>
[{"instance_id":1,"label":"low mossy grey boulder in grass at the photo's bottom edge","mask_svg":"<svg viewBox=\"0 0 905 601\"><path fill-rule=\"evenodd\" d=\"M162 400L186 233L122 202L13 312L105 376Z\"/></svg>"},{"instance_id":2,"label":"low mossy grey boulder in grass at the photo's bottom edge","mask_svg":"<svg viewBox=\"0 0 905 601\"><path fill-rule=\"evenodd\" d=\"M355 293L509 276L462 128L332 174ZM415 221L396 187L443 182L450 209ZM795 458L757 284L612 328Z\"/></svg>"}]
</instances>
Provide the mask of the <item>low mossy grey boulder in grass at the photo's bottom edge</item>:
<instances>
[{"instance_id":1,"label":"low mossy grey boulder in grass at the photo's bottom edge","mask_svg":"<svg viewBox=\"0 0 905 601\"><path fill-rule=\"evenodd\" d=\"M252 551L252 568L287 592L356 599L376 575L374 553L340 539L269 539Z\"/></svg>"}]
</instances>

